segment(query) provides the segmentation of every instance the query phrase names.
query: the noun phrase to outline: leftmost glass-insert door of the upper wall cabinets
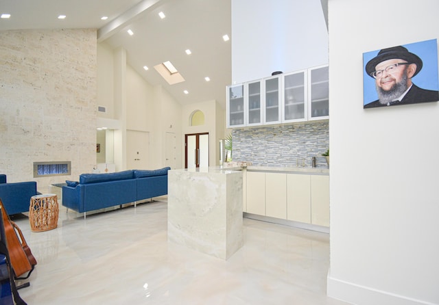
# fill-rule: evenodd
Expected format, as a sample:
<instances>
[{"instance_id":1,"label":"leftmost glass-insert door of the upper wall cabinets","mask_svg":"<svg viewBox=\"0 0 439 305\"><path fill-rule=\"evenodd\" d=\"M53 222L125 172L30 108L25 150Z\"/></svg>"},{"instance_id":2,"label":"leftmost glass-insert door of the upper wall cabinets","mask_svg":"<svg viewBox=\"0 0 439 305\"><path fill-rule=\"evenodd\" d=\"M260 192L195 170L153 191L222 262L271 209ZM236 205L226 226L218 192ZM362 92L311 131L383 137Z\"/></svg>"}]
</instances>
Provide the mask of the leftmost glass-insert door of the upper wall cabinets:
<instances>
[{"instance_id":1,"label":"leftmost glass-insert door of the upper wall cabinets","mask_svg":"<svg viewBox=\"0 0 439 305\"><path fill-rule=\"evenodd\" d=\"M228 126L244 126L244 85L228 87Z\"/></svg>"}]
</instances>

